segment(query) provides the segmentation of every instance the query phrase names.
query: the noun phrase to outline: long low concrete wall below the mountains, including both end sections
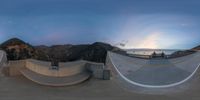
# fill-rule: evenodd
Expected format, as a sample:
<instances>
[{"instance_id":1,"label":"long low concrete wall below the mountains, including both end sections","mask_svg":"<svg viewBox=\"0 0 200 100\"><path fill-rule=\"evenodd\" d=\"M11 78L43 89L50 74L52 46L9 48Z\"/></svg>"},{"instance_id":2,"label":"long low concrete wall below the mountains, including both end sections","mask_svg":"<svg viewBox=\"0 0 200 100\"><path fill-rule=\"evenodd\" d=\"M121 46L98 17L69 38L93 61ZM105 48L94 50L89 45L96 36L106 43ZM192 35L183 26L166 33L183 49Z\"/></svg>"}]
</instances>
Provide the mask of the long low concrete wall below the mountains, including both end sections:
<instances>
[{"instance_id":1,"label":"long low concrete wall below the mountains, including both end sections","mask_svg":"<svg viewBox=\"0 0 200 100\"><path fill-rule=\"evenodd\" d=\"M104 67L103 63L94 63L84 60L59 63L58 70L51 69L52 66L50 62L34 59L10 61L8 66L4 67L4 74L8 76L21 75L20 70L24 68L51 77L66 77L89 71L95 78L105 80L110 79L110 71Z\"/></svg>"}]
</instances>

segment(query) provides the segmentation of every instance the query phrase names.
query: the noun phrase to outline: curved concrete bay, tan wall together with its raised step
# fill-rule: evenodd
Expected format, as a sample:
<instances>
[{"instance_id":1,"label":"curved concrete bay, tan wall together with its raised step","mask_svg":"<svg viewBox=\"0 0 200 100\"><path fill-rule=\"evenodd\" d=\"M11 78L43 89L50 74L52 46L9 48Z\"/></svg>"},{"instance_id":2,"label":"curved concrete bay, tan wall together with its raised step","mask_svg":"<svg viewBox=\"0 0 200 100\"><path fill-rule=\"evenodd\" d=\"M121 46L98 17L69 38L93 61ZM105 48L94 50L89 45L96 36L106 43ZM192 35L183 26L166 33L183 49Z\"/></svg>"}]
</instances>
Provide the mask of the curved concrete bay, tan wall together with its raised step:
<instances>
[{"instance_id":1,"label":"curved concrete bay, tan wall together with its raised step","mask_svg":"<svg viewBox=\"0 0 200 100\"><path fill-rule=\"evenodd\" d=\"M81 83L90 77L84 61L60 63L59 69L51 69L50 62L27 60L22 75L41 85L68 86Z\"/></svg>"}]
</instances>

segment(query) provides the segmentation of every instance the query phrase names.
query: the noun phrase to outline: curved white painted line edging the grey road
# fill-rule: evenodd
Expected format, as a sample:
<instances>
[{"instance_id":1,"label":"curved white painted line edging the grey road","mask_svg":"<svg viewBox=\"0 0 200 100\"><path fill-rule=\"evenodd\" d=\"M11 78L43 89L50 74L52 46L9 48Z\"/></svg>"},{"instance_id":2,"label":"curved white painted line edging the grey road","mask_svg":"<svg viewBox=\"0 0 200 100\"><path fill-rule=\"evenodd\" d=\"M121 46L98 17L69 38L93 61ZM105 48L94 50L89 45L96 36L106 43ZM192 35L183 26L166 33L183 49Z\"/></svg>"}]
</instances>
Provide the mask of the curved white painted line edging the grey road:
<instances>
[{"instance_id":1,"label":"curved white painted line edging the grey road","mask_svg":"<svg viewBox=\"0 0 200 100\"><path fill-rule=\"evenodd\" d=\"M196 53L196 57L198 58L198 61L200 59L200 53ZM192 56L192 55L190 55ZM188 56L186 56L187 58ZM195 58L195 59L197 59ZM183 58L180 58L181 60ZM177 60L180 60L180 59L177 59ZM187 58L189 59L189 58ZM173 59L174 60L174 59ZM181 80L181 81L178 81L176 83L173 83L173 84L168 84L168 85L147 85L147 84L141 84L141 83L138 83L138 82L134 82L132 80L130 80L129 78L125 77L125 75L123 75L120 70L117 68L117 65L115 65L115 63L113 62L113 59L111 57L111 52L108 53L108 56L107 56L107 66L111 67L111 69L114 69L114 74L117 74L121 77L121 79L125 80L127 83L129 84L132 84L132 85L135 85L135 86L139 86L139 87L143 87L143 88L169 88L169 87L174 87L174 86L177 86L177 85L180 85L182 83L185 83L186 81L188 81L189 79L191 79L193 77L193 75L197 72L197 70L199 69L200 67L200 62L198 63L197 66L194 67L193 69L193 72L188 76L186 77L185 79Z\"/></svg>"}]
</instances>

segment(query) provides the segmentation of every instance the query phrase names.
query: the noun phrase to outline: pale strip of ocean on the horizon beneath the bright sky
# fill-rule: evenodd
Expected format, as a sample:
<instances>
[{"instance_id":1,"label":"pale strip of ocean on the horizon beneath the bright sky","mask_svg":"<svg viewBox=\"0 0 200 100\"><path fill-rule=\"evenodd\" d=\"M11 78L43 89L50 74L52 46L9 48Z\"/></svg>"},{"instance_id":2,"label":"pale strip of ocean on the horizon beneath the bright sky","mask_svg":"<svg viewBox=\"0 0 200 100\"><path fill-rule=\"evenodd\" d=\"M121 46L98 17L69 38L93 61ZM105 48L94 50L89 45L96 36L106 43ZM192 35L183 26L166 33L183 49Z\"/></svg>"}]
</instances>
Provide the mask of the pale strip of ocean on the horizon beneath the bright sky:
<instances>
[{"instance_id":1,"label":"pale strip of ocean on the horizon beneath the bright sky","mask_svg":"<svg viewBox=\"0 0 200 100\"><path fill-rule=\"evenodd\" d=\"M153 52L156 53L164 52L166 55L170 55L176 51L179 50L178 49L127 49L126 50L128 54L134 54L134 55L151 55Z\"/></svg>"}]
</instances>

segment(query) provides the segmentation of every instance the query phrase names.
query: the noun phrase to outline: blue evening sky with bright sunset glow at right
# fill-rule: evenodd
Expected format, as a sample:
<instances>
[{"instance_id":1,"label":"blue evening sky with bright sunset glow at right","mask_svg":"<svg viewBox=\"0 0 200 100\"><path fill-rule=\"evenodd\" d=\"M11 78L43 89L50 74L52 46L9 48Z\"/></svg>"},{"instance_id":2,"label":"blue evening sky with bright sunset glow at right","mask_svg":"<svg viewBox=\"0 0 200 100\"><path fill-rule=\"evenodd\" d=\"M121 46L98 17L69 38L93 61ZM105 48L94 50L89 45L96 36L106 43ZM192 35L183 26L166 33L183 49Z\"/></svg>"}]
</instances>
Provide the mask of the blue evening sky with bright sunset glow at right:
<instances>
[{"instance_id":1,"label":"blue evening sky with bright sunset glow at right","mask_svg":"<svg viewBox=\"0 0 200 100\"><path fill-rule=\"evenodd\" d=\"M199 9L199 0L1 0L0 43L189 49L200 45Z\"/></svg>"}]
</instances>

